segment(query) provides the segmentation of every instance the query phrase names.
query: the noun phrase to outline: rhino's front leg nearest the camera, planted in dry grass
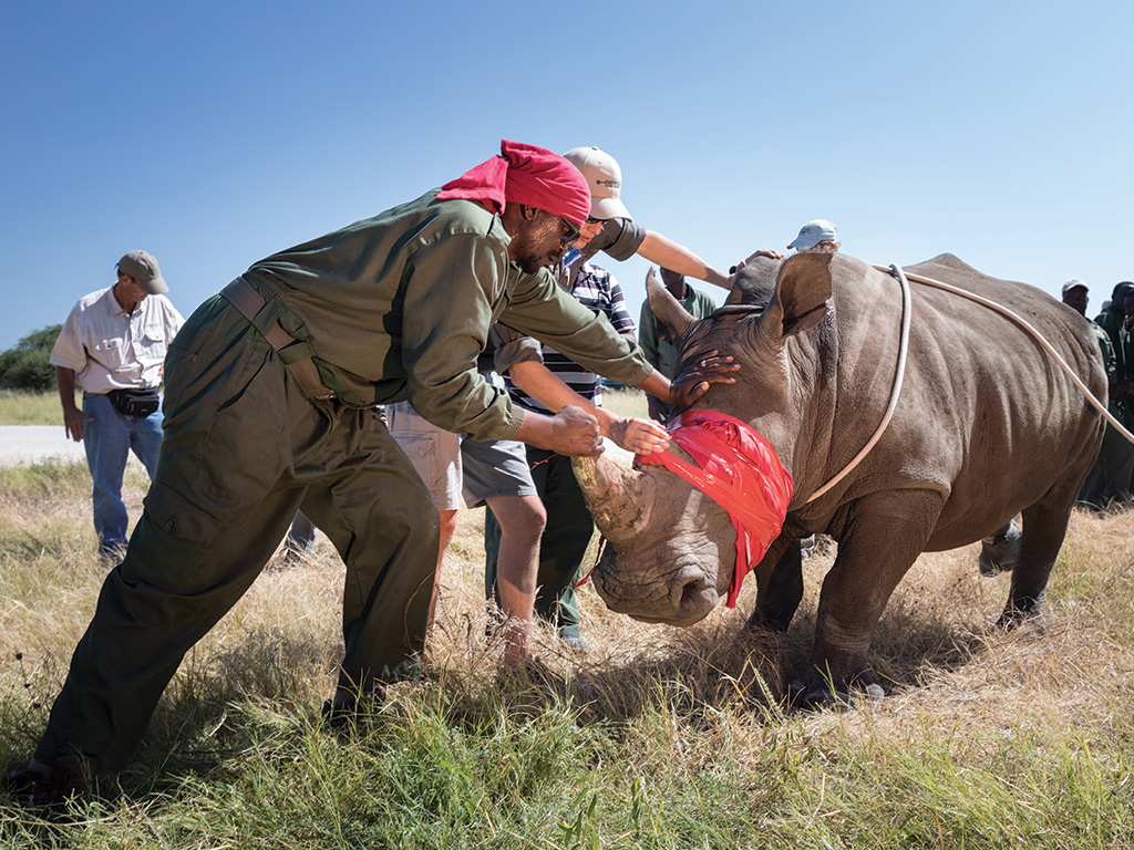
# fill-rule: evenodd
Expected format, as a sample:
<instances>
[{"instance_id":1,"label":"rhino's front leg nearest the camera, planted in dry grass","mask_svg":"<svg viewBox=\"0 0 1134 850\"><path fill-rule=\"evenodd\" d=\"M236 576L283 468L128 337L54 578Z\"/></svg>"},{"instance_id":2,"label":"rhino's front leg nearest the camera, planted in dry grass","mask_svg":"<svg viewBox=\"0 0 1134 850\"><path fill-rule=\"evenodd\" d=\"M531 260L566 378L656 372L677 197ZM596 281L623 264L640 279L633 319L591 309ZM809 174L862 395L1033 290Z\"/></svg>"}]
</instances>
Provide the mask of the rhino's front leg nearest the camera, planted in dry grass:
<instances>
[{"instance_id":1,"label":"rhino's front leg nearest the camera, planted in dry grass","mask_svg":"<svg viewBox=\"0 0 1134 850\"><path fill-rule=\"evenodd\" d=\"M943 500L932 491L873 493L848 505L838 555L823 578L815 645L793 702L811 707L853 689L881 699L866 663L870 641L898 581L921 554Z\"/></svg>"}]
</instances>

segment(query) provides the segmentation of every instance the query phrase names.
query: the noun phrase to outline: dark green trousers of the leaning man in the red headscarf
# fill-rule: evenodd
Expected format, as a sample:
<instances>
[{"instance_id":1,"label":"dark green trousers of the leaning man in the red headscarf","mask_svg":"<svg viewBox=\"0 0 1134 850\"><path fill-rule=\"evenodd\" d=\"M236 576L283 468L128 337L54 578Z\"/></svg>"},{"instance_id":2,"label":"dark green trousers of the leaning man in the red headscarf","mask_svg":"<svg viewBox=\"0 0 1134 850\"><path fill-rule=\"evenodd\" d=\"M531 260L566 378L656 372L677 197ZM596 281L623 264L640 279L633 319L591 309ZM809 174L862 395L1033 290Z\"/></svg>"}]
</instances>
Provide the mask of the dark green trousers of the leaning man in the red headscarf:
<instances>
[{"instance_id":1,"label":"dark green trousers of the leaning man in the red headscarf","mask_svg":"<svg viewBox=\"0 0 1134 850\"><path fill-rule=\"evenodd\" d=\"M417 674L438 515L381 419L312 402L222 297L166 360L166 430L145 512L103 584L36 758L121 770L184 654L236 604L297 509L346 563L340 685Z\"/></svg>"}]
</instances>

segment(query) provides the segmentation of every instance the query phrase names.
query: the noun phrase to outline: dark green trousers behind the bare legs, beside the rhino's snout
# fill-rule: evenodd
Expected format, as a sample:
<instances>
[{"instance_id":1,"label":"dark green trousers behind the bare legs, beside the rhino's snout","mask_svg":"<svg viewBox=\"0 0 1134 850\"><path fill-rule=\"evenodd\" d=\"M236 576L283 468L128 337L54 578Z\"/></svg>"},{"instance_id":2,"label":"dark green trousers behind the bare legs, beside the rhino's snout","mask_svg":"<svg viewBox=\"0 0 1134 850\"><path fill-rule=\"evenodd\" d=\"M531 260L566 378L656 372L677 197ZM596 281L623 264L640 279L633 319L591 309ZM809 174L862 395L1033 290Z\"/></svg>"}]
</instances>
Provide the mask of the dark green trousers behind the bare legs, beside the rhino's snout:
<instances>
[{"instance_id":1,"label":"dark green trousers behind the bare legs, beside the rhino's snout","mask_svg":"<svg viewBox=\"0 0 1134 850\"><path fill-rule=\"evenodd\" d=\"M564 637L579 637L578 602L575 583L594 534L594 520L583 501L572 469L570 458L553 451L527 447L532 481L548 511L548 524L540 538L540 568L535 593L538 617L556 622ZM500 554L500 524L491 508L484 510L484 589L500 604L497 590L497 559Z\"/></svg>"}]
</instances>

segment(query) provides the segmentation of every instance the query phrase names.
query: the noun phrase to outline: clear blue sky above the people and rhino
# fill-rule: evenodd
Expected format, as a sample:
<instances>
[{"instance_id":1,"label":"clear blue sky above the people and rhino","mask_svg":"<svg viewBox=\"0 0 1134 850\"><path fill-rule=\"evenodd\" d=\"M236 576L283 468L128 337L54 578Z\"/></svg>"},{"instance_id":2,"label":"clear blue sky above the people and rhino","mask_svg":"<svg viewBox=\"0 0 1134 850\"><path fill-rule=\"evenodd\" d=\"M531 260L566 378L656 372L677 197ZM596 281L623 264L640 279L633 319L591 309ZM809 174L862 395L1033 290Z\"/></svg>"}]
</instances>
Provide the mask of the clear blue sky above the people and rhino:
<instances>
[{"instance_id":1,"label":"clear blue sky above the people and rhino","mask_svg":"<svg viewBox=\"0 0 1134 850\"><path fill-rule=\"evenodd\" d=\"M11 2L0 349L130 248L188 315L500 138L604 148L719 267L826 218L872 263L1083 278L1093 315L1134 279L1132 32L1129 2ZM636 315L646 264L607 265Z\"/></svg>"}]
</instances>

